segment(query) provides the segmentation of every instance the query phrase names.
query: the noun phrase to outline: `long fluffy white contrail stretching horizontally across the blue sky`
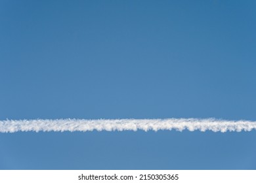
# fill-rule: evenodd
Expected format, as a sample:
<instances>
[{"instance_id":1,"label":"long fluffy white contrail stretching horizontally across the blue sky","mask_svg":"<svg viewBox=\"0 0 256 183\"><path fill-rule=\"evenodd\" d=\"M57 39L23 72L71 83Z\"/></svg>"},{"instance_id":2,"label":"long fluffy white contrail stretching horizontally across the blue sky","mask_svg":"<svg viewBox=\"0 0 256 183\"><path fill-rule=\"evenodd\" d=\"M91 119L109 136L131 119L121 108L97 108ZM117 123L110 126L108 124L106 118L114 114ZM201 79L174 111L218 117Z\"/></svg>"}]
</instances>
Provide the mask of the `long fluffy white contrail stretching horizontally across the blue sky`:
<instances>
[{"instance_id":1,"label":"long fluffy white contrail stretching horizontally across the blue sky","mask_svg":"<svg viewBox=\"0 0 256 183\"><path fill-rule=\"evenodd\" d=\"M0 121L0 133L17 131L251 131L256 122L239 120L217 120L215 118L169 118L169 119L119 119L119 120L3 120Z\"/></svg>"}]
</instances>

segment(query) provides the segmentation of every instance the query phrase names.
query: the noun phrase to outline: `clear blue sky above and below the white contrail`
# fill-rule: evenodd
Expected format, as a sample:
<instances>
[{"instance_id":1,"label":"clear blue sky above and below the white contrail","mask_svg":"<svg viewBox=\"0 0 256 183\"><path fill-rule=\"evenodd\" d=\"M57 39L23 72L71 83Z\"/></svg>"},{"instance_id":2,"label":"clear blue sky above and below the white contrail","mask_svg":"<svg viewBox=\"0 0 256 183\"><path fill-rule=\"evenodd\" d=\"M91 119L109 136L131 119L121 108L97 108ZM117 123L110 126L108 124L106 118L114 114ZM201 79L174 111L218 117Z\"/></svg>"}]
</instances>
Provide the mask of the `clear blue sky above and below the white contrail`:
<instances>
[{"instance_id":1,"label":"clear blue sky above and below the white contrail","mask_svg":"<svg viewBox=\"0 0 256 183\"><path fill-rule=\"evenodd\" d=\"M256 120L255 1L0 1L0 120ZM0 133L0 169L256 169L256 133Z\"/></svg>"}]
</instances>

